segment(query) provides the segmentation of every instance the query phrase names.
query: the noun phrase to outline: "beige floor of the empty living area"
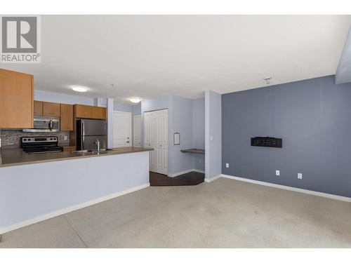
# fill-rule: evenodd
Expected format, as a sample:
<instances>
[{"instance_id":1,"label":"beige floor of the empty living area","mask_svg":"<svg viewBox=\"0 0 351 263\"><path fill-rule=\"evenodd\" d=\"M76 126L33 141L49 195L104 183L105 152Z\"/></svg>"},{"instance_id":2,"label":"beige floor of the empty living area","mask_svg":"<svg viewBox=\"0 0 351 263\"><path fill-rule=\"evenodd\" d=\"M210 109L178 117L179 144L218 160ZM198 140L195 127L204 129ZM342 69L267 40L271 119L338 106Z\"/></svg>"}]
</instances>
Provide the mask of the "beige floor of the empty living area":
<instances>
[{"instance_id":1,"label":"beige floor of the empty living area","mask_svg":"<svg viewBox=\"0 0 351 263\"><path fill-rule=\"evenodd\" d=\"M0 248L351 248L351 204L227 178L148 187L3 235Z\"/></svg>"}]
</instances>

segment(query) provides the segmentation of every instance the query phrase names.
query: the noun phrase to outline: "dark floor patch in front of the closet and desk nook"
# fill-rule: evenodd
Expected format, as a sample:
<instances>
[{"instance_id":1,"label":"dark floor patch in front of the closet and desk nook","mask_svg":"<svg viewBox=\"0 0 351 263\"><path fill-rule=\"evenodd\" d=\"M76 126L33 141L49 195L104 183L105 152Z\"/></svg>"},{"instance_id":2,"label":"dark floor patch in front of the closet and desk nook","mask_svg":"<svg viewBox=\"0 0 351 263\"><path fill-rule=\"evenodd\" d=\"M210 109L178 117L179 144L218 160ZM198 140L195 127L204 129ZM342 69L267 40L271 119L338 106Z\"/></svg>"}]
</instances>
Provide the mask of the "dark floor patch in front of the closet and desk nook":
<instances>
[{"instance_id":1,"label":"dark floor patch in front of the closet and desk nook","mask_svg":"<svg viewBox=\"0 0 351 263\"><path fill-rule=\"evenodd\" d=\"M190 172L176 177L168 177L160 173L150 172L151 187L168 187L182 185L197 185L204 182L205 175L203 173Z\"/></svg>"}]
</instances>

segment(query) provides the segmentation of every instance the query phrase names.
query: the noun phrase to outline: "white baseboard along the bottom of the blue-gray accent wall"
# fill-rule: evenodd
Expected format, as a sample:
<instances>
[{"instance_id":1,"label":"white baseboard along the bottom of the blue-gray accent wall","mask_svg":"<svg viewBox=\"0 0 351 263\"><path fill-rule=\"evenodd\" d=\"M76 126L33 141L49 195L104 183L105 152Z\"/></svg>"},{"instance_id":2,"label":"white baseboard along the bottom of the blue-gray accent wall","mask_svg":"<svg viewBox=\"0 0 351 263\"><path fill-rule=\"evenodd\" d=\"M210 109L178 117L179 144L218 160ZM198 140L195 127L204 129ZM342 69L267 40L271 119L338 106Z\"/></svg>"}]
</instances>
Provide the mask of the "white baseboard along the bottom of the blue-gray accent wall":
<instances>
[{"instance_id":1,"label":"white baseboard along the bottom of the blue-gray accent wall","mask_svg":"<svg viewBox=\"0 0 351 263\"><path fill-rule=\"evenodd\" d=\"M282 185L282 184L272 184L270 182L251 180L251 179L246 179L243 177L237 177L237 176L232 176L232 175L220 175L220 177L225 177L225 178L238 180L238 181L242 181L242 182L249 182L251 184L260 184L260 185L264 185L266 187L274 187L274 188L279 188L279 189L284 189L284 190L289 190L289 191L298 191L298 192L303 193L303 194L312 194L314 196L322 196L322 197L326 197L326 198L336 199L339 201L351 202L350 197L336 196L335 194L326 194L326 193L322 193L320 191L312 191L312 190L300 189L300 188L296 188L296 187L286 187L285 185Z\"/></svg>"}]
</instances>

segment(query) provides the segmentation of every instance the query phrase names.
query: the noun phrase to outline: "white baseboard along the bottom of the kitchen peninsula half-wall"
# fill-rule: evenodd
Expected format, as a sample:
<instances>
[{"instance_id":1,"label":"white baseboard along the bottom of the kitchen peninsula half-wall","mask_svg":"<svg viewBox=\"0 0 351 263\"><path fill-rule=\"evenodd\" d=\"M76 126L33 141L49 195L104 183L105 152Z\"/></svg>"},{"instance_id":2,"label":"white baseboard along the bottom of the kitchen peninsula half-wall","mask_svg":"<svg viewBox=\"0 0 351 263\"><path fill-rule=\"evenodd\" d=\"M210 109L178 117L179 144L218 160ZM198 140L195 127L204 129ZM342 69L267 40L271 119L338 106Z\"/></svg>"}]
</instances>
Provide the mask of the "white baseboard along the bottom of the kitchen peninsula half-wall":
<instances>
[{"instance_id":1,"label":"white baseboard along the bottom of the kitchen peninsula half-wall","mask_svg":"<svg viewBox=\"0 0 351 263\"><path fill-rule=\"evenodd\" d=\"M22 227L27 227L27 226L29 226L29 224L35 224L37 222L48 220L48 219L50 219L52 217L57 217L58 215L63 215L63 214L72 212L74 210L78 210L78 209L81 209L81 208L86 208L87 206L95 205L96 203L101 203L103 201L107 201L109 199L116 198L118 196L123 196L124 194L129 194L129 193L132 193L133 191L138 191L138 190L144 189L146 187L150 187L150 183L142 184L142 185L139 185L138 187L132 187L132 188L126 189L124 191L119 191L117 193L110 194L108 196L102 196L100 198L96 198L94 200L87 201L85 203L79 203L78 205L72 205L72 206L70 206L68 208L64 208L64 209L55 211L53 213L48 213L46 215L40 215L39 217L34 217L34 218L30 219L30 220L26 220L26 221L19 222L19 223L16 223L16 224L11 224L11 226L1 228L0 229L0 234L4 234L4 233L7 233L9 231L13 231L15 229L20 229Z\"/></svg>"}]
</instances>

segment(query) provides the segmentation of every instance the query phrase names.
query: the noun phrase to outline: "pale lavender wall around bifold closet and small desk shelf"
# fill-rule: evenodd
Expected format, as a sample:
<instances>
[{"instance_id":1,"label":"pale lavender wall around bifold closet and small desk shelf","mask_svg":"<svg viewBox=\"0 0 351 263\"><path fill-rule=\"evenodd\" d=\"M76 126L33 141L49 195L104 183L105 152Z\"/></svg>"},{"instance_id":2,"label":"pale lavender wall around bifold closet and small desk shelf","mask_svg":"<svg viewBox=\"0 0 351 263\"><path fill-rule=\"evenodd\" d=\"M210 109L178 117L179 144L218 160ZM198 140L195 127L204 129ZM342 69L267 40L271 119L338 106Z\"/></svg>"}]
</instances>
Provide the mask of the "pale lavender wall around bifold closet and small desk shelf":
<instances>
[{"instance_id":1,"label":"pale lavender wall around bifold closet and small desk shelf","mask_svg":"<svg viewBox=\"0 0 351 263\"><path fill-rule=\"evenodd\" d=\"M194 146L204 149L204 107L204 98L191 100L177 95L162 96L141 102L142 145L144 143L143 113L168 109L168 174L176 174L194 168L204 170L204 156L180 152L180 149L189 149ZM180 133L180 145L173 145L173 133L176 132Z\"/></svg>"}]
</instances>

